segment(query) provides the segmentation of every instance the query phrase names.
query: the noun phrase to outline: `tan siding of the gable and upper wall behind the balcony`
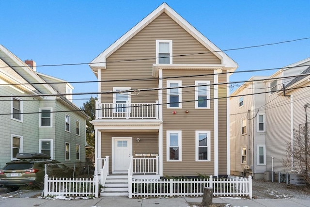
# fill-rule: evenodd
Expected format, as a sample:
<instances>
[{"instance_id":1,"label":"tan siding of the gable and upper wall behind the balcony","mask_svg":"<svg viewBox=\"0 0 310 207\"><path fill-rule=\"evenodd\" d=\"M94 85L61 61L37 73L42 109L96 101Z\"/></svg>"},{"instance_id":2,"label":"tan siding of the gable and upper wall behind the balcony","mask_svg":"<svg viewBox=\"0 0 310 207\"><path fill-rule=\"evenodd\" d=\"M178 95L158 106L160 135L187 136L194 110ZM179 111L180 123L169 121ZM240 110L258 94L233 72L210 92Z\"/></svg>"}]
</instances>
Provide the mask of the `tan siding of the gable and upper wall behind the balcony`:
<instances>
[{"instance_id":1,"label":"tan siding of the gable and upper wall behind the balcony","mask_svg":"<svg viewBox=\"0 0 310 207\"><path fill-rule=\"evenodd\" d=\"M201 52L207 53L173 57L173 64L221 64L221 61L213 53L209 53L208 49L204 48L164 13L107 58L107 69L102 71L101 80L152 78L153 64L156 63L156 40L172 40L173 56ZM151 60L110 63L143 58L151 58ZM101 84L101 91L110 91L112 87L156 88L158 87L158 81L132 80L108 82ZM131 97L131 102L155 102L158 98L154 95L157 95L156 91L140 92L140 96ZM102 97L107 100L106 102L109 102L108 100L111 100L112 95L102 95Z\"/></svg>"}]
</instances>

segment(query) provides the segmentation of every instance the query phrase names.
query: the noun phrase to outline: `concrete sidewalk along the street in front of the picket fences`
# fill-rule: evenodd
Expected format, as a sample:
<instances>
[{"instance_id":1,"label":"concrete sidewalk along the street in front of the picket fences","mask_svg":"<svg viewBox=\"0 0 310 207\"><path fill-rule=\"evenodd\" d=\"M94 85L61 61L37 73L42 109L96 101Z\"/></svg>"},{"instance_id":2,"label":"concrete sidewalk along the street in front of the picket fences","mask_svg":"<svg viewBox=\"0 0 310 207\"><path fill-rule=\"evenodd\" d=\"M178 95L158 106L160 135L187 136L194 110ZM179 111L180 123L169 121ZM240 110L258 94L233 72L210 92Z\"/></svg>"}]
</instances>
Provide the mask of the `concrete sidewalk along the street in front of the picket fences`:
<instances>
[{"instance_id":1,"label":"concrete sidewalk along the street in front of the picket fences","mask_svg":"<svg viewBox=\"0 0 310 207\"><path fill-rule=\"evenodd\" d=\"M148 198L135 199L121 196L96 199L52 200L27 197L0 197L0 207L189 207L202 202L202 198ZM309 200L299 199L236 199L213 198L213 203L227 207L310 207Z\"/></svg>"}]
</instances>

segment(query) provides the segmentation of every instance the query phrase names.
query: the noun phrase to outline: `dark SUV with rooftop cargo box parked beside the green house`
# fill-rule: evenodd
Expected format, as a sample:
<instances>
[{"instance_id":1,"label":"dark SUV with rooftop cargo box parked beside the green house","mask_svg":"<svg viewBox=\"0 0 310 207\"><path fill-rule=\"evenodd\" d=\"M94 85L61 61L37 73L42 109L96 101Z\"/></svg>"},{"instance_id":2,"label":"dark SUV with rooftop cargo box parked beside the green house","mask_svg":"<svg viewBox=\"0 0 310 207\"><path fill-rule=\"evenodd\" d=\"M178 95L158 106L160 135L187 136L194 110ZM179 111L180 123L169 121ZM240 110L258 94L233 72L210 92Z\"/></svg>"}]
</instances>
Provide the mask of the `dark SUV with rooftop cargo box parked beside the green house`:
<instances>
[{"instance_id":1,"label":"dark SUV with rooftop cargo box parked beside the green house","mask_svg":"<svg viewBox=\"0 0 310 207\"><path fill-rule=\"evenodd\" d=\"M73 169L42 153L18 153L18 160L0 169L0 187L17 191L20 186L44 189L45 164L50 177L73 177Z\"/></svg>"}]
</instances>

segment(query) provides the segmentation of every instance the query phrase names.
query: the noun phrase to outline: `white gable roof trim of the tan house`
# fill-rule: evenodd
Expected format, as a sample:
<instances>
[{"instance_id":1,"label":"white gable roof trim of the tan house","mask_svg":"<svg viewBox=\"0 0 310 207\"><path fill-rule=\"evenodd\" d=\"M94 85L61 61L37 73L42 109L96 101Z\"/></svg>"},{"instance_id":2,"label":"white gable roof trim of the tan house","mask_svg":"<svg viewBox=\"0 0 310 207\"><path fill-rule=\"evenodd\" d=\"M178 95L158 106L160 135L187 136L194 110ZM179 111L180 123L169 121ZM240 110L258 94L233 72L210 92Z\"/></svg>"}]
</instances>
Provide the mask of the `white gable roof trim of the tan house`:
<instances>
[{"instance_id":1,"label":"white gable roof trim of the tan house","mask_svg":"<svg viewBox=\"0 0 310 207\"><path fill-rule=\"evenodd\" d=\"M115 41L109 48L104 50L99 54L93 61L89 64L93 72L96 74L98 69L106 68L107 58L115 52L118 48L122 47L128 40L140 32L143 28L149 25L154 19L160 16L162 13L166 13L171 17L177 24L179 24L186 32L192 35L197 41L199 41L205 48L209 49L213 54L216 55L220 60L221 64L225 67L235 70L238 64L233 61L228 55L220 51L216 45L214 45L210 40L208 40L201 32L196 30L191 24L189 24L182 16L176 13L167 3L162 3L157 7L151 14L142 19L136 26L126 32L122 37Z\"/></svg>"}]
</instances>

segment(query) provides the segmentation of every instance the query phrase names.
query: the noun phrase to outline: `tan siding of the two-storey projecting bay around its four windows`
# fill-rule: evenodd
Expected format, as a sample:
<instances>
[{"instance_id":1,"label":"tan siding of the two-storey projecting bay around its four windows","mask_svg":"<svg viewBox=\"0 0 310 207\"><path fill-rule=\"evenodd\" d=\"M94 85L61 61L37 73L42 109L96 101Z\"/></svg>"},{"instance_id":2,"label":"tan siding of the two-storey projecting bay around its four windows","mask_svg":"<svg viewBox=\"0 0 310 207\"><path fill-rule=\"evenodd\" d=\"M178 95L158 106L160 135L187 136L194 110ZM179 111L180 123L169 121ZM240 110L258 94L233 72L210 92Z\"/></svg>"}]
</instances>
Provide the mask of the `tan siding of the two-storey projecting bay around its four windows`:
<instances>
[{"instance_id":1,"label":"tan siding of the two-storey projecting bay around its four windows","mask_svg":"<svg viewBox=\"0 0 310 207\"><path fill-rule=\"evenodd\" d=\"M213 70L164 70L164 77L175 76L177 72L182 75L212 74ZM180 80L180 79L169 79ZM209 80L213 83L213 76L189 77L183 78L182 85L194 85L195 80ZM163 87L166 87L167 81L163 81ZM166 90L163 91L163 103L167 102ZM211 98L214 97L213 87L211 86ZM195 109L195 88L182 89L182 101L192 101L182 103L182 109L167 109L163 106L163 170L164 175L187 175L197 176L197 173L214 175L214 103L210 101L211 109ZM185 111L189 112L186 113ZM176 111L176 114L172 114ZM167 130L182 131L182 161L167 161ZM211 161L195 161L195 130L211 131ZM194 169L194 170L193 170Z\"/></svg>"}]
</instances>

